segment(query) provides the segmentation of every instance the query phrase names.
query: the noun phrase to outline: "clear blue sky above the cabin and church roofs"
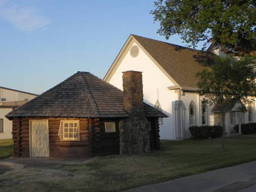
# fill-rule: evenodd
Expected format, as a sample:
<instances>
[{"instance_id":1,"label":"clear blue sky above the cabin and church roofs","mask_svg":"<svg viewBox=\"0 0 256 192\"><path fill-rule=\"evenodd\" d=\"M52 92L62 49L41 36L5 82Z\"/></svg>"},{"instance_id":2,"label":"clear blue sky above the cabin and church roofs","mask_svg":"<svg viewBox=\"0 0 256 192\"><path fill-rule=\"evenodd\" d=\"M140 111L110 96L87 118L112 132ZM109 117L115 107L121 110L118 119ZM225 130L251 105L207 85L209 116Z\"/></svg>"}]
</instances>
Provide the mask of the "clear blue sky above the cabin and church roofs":
<instances>
[{"instance_id":1,"label":"clear blue sky above the cabin and church roofs","mask_svg":"<svg viewBox=\"0 0 256 192\"><path fill-rule=\"evenodd\" d=\"M167 41L152 9L149 0L0 0L0 86L41 94L78 70L103 78L130 34Z\"/></svg>"}]
</instances>

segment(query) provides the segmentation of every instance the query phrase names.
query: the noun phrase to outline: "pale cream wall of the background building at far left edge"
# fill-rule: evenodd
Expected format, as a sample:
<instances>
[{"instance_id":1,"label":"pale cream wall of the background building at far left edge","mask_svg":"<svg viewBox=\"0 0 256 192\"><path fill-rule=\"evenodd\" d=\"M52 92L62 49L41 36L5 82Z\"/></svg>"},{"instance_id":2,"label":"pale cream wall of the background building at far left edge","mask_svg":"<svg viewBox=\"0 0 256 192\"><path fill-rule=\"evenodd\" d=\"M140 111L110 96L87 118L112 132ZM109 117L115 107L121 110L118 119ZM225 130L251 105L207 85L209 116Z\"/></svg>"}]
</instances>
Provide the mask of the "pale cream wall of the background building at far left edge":
<instances>
[{"instance_id":1,"label":"pale cream wall of the background building at far left edge","mask_svg":"<svg viewBox=\"0 0 256 192\"><path fill-rule=\"evenodd\" d=\"M0 133L0 140L12 138L12 121L4 117L12 108L0 108L0 118L4 120L4 133Z\"/></svg>"}]
</instances>

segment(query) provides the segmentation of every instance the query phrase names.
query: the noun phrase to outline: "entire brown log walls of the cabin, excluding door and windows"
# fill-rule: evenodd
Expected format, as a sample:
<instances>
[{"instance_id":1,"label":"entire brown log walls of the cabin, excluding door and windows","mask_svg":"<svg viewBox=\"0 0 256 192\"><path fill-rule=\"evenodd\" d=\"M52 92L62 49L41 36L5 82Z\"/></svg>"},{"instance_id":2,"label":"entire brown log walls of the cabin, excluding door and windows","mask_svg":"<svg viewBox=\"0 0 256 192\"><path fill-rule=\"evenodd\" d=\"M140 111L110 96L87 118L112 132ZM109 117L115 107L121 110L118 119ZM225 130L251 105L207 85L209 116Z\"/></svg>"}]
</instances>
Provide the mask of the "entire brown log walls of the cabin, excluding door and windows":
<instances>
[{"instance_id":1,"label":"entire brown log walls of the cabin, excluding door and windows","mask_svg":"<svg viewBox=\"0 0 256 192\"><path fill-rule=\"evenodd\" d=\"M120 119L104 118L14 118L12 136L14 156L29 157L29 120L48 120L50 157L82 158L102 155L118 155ZM63 141L59 138L61 120L79 120L80 141ZM159 150L158 118L148 118L150 130L150 150ZM116 122L116 132L106 133L105 122Z\"/></svg>"}]
</instances>

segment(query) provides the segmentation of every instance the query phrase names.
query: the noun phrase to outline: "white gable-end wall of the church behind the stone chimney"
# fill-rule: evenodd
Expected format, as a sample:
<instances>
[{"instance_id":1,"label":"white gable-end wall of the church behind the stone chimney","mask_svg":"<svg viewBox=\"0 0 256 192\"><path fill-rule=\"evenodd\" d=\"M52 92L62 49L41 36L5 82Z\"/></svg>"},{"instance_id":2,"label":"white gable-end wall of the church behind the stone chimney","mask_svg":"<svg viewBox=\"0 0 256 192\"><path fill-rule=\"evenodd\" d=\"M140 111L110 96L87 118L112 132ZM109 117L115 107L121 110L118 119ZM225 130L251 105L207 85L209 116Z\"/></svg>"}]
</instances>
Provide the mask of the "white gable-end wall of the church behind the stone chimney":
<instances>
[{"instance_id":1,"label":"white gable-end wall of the church behind the stone chimney","mask_svg":"<svg viewBox=\"0 0 256 192\"><path fill-rule=\"evenodd\" d=\"M136 45L131 42L127 49ZM142 49L139 49L139 55L132 57L128 51L124 58L120 61L114 75L112 75L109 83L122 89L122 72L126 70L137 70L142 72L144 101L154 107L157 99L159 100L162 112L169 117L164 118L163 125L160 125L160 138L174 140L174 120L172 108L174 101L178 99L178 94L167 89L174 83L155 65Z\"/></svg>"}]
</instances>

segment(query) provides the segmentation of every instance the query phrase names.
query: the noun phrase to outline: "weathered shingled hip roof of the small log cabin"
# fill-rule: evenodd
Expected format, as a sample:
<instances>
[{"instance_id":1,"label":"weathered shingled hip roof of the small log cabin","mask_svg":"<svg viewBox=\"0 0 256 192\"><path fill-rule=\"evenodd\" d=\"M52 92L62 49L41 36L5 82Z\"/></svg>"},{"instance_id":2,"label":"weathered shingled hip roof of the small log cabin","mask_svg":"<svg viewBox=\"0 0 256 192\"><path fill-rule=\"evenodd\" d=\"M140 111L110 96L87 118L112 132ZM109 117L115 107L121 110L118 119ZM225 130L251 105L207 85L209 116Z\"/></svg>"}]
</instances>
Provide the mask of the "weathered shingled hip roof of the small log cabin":
<instances>
[{"instance_id":1,"label":"weathered shingled hip roof of the small log cabin","mask_svg":"<svg viewBox=\"0 0 256 192\"><path fill-rule=\"evenodd\" d=\"M77 72L6 115L14 117L129 117L123 92L89 72ZM146 117L167 117L144 103Z\"/></svg>"}]
</instances>

